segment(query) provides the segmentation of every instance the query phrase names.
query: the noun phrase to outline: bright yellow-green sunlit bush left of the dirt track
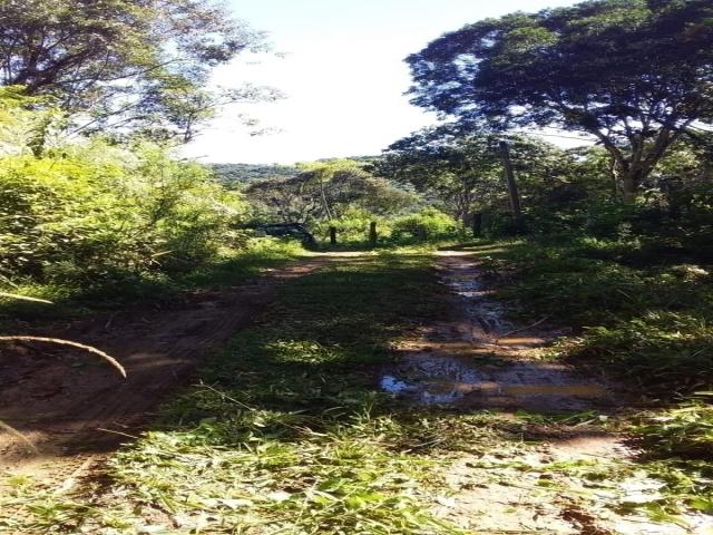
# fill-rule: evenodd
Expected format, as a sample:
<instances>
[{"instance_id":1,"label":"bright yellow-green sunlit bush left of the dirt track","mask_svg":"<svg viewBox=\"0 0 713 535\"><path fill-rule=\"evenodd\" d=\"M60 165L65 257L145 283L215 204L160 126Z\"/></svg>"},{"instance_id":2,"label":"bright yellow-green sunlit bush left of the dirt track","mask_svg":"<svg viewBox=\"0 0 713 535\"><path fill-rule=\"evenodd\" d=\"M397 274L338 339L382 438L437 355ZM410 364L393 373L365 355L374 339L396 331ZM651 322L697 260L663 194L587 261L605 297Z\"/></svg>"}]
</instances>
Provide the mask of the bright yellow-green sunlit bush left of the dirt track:
<instances>
[{"instance_id":1,"label":"bright yellow-green sunlit bush left of the dirt track","mask_svg":"<svg viewBox=\"0 0 713 535\"><path fill-rule=\"evenodd\" d=\"M189 271L240 240L235 193L153 145L0 159L0 274L37 282Z\"/></svg>"}]
</instances>

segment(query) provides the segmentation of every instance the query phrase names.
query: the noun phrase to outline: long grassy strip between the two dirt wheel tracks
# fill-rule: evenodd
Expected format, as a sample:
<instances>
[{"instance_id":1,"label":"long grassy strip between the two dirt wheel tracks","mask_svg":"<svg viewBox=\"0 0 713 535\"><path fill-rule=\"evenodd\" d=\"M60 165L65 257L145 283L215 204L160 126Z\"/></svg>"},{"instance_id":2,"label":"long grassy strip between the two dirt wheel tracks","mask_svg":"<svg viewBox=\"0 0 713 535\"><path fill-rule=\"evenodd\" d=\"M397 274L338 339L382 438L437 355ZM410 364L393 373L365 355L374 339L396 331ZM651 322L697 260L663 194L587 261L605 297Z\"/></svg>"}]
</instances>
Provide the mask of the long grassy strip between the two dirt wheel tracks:
<instances>
[{"instance_id":1,"label":"long grassy strip between the two dirt wheel tracks","mask_svg":"<svg viewBox=\"0 0 713 535\"><path fill-rule=\"evenodd\" d=\"M286 284L280 304L164 408L159 429L111 459L111 493L42 502L22 487L16 499L31 505L12 522L60 533L133 533L146 518L164 533L176 524L205 533L460 533L430 514L442 492L433 448L490 431L465 418L452 434L451 416L394 412L374 383L390 344L442 305L429 265L426 254L381 253Z\"/></svg>"}]
</instances>

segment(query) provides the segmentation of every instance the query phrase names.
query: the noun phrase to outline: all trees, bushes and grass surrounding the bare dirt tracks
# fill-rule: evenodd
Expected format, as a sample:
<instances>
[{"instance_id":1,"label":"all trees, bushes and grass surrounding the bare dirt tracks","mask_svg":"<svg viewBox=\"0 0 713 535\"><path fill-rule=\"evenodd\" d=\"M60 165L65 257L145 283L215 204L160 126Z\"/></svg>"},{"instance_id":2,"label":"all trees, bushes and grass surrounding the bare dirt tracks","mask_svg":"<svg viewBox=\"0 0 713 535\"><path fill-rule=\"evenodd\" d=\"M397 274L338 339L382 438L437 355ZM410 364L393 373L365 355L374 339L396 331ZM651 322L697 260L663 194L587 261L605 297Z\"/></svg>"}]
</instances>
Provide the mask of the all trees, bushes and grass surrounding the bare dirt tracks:
<instances>
[{"instance_id":1,"label":"all trees, bushes and grass surrounding the bare dirt tracks","mask_svg":"<svg viewBox=\"0 0 713 535\"><path fill-rule=\"evenodd\" d=\"M266 49L224 8L27 3L0 6L3 331L41 322L46 309L17 295L117 307L233 285L304 253L263 236L270 224L372 251L285 284L276 313L110 459L111 492L69 499L12 480L0 506L17 515L0 528L131 533L152 518L206 533L461 533L429 513L446 463L528 451L522 439L549 425L624 430L643 454L485 469L567 473L600 485L606 507L660 521L713 513L710 1L597 0L470 23L407 60L413 103L446 120L380 156L293 166L176 156L223 106L277 98L205 89L212 67ZM577 133L590 143L543 140ZM445 313L431 250L456 243L510 315L570 329L547 358L605 374L632 407L616 421L505 419L375 392L393 343ZM660 496L631 504L619 483L642 471Z\"/></svg>"}]
</instances>

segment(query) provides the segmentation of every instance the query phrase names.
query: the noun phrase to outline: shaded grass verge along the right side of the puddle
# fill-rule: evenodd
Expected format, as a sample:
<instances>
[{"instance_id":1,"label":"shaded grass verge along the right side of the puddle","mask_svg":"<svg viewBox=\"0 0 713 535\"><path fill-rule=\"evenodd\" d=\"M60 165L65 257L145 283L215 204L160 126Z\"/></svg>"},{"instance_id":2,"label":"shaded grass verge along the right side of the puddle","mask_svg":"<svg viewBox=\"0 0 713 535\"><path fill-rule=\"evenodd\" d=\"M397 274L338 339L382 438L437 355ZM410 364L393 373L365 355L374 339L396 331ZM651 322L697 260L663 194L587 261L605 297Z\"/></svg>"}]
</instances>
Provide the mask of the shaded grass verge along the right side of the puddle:
<instances>
[{"instance_id":1,"label":"shaded grass verge along the right side of the puddle","mask_svg":"<svg viewBox=\"0 0 713 535\"><path fill-rule=\"evenodd\" d=\"M635 239L469 249L512 313L574 328L550 358L615 377L638 395L628 431L644 460L612 467L607 479L644 469L661 492L628 506L658 518L686 507L713 514L713 266Z\"/></svg>"}]
</instances>

